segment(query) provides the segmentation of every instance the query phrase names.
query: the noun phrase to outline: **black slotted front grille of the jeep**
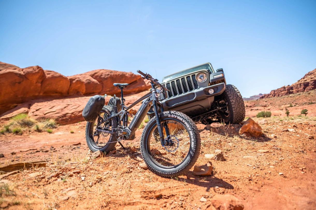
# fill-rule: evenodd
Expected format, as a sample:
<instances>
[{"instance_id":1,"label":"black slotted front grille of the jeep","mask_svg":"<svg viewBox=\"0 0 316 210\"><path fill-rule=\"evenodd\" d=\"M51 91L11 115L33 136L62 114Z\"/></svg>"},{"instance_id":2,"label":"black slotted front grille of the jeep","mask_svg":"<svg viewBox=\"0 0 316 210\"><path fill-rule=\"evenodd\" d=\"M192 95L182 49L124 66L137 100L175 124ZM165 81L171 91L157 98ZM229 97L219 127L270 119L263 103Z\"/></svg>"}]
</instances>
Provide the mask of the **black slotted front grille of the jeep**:
<instances>
[{"instance_id":1,"label":"black slotted front grille of the jeep","mask_svg":"<svg viewBox=\"0 0 316 210\"><path fill-rule=\"evenodd\" d=\"M168 96L170 98L198 89L198 84L195 79L195 74L192 74L180 79L169 81L166 83L166 87L169 90Z\"/></svg>"}]
</instances>

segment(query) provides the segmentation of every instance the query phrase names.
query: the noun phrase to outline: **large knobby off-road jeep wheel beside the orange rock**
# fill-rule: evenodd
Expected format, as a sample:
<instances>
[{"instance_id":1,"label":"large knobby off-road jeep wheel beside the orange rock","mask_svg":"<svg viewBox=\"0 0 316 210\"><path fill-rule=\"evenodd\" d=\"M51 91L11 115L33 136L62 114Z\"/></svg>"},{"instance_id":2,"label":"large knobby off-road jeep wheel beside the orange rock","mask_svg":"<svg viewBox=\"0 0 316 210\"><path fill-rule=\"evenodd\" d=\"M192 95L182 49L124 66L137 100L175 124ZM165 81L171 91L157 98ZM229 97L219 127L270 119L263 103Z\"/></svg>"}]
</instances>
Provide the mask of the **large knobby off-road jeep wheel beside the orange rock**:
<instances>
[{"instance_id":1,"label":"large knobby off-road jeep wheel beside the orange rock","mask_svg":"<svg viewBox=\"0 0 316 210\"><path fill-rule=\"evenodd\" d=\"M240 123L245 119L246 110L244 100L239 90L234 85L226 85L225 91L218 100L219 105L227 103L226 110L219 110L220 119L226 124Z\"/></svg>"}]
</instances>

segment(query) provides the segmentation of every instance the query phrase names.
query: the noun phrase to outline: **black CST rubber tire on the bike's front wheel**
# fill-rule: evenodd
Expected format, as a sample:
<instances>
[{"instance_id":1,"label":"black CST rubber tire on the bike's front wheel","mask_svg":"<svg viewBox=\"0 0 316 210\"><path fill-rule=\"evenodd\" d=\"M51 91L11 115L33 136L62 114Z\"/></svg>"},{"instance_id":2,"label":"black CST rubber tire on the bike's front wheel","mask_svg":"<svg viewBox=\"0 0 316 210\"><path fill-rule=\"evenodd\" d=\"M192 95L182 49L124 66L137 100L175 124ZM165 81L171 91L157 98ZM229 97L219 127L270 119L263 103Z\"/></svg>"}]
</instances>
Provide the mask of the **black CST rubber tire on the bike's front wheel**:
<instances>
[{"instance_id":1,"label":"black CST rubber tire on the bike's front wheel","mask_svg":"<svg viewBox=\"0 0 316 210\"><path fill-rule=\"evenodd\" d=\"M143 156L143 160L145 161L150 171L162 177L177 177L188 172L190 168L197 161L197 158L200 154L200 148L201 148L200 133L198 132L197 126L194 124L191 118L181 112L166 111L166 112L160 113L160 119L161 121L165 119L170 119L170 120L182 119L182 121L185 121L188 127L191 128L192 134L189 134L191 143L190 143L190 149L189 149L188 155L180 164L173 167L158 166L151 159L150 157L151 151L148 151L150 150L150 148L148 148L148 140L150 138L151 129L156 125L155 117L149 120L149 122L147 123L147 125L145 126L143 130L142 137L141 137L140 150ZM182 124L182 125L185 125L185 124Z\"/></svg>"}]
</instances>

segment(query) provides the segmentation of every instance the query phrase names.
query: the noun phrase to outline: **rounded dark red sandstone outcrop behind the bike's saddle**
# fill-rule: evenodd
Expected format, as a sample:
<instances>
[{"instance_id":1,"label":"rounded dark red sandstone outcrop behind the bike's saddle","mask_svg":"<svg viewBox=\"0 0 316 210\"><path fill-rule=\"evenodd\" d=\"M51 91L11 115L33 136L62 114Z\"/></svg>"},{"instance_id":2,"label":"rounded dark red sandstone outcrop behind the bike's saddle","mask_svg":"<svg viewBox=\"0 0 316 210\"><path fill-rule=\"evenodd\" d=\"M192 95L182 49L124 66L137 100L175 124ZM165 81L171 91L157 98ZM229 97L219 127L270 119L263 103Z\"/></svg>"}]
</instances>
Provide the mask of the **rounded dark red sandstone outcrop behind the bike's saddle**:
<instances>
[{"instance_id":1,"label":"rounded dark red sandstone outcrop behind the bike's saddle","mask_svg":"<svg viewBox=\"0 0 316 210\"><path fill-rule=\"evenodd\" d=\"M148 81L131 72L99 69L65 77L39 66L19 68L0 62L0 114L33 99L120 94L113 83L130 83L125 94L150 88Z\"/></svg>"}]
</instances>

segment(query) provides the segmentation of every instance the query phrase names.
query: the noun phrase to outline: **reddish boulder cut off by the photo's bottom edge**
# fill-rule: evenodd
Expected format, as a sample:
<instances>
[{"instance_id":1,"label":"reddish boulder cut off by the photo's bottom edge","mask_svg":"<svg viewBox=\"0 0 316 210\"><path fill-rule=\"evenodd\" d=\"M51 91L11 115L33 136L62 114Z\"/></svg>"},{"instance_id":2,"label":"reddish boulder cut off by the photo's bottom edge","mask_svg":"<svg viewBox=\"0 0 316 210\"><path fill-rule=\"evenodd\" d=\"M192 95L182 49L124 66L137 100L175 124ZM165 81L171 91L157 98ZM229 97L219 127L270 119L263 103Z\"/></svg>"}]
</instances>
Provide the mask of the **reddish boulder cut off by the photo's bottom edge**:
<instances>
[{"instance_id":1,"label":"reddish boulder cut off by the photo's bottom edge","mask_svg":"<svg viewBox=\"0 0 316 210\"><path fill-rule=\"evenodd\" d=\"M244 205L234 195L214 195L211 201L216 210L243 210Z\"/></svg>"}]
</instances>

